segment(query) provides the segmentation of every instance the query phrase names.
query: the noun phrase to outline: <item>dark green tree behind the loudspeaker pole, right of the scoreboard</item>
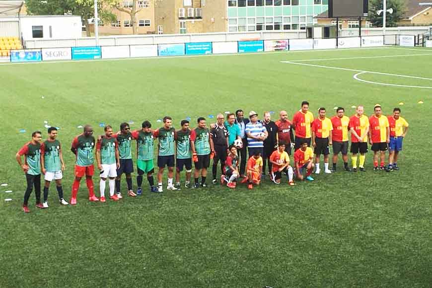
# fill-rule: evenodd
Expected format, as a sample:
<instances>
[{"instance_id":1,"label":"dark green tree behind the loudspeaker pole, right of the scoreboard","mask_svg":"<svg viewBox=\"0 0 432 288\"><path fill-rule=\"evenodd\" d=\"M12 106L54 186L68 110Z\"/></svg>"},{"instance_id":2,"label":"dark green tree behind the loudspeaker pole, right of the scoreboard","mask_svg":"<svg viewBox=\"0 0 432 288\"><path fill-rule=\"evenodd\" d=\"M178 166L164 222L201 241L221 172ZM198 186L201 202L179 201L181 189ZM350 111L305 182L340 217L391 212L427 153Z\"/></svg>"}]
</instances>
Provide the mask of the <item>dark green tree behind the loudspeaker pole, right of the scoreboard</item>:
<instances>
[{"instance_id":1,"label":"dark green tree behind the loudspeaker pole, right of the scoreboard","mask_svg":"<svg viewBox=\"0 0 432 288\"><path fill-rule=\"evenodd\" d=\"M369 13L367 20L372 23L373 27L382 27L382 17L377 15L376 11L382 10L383 0L369 0ZM387 9L393 8L393 14L387 13L387 27L396 27L398 22L403 18L407 11L407 6L404 0L387 0Z\"/></svg>"}]
</instances>

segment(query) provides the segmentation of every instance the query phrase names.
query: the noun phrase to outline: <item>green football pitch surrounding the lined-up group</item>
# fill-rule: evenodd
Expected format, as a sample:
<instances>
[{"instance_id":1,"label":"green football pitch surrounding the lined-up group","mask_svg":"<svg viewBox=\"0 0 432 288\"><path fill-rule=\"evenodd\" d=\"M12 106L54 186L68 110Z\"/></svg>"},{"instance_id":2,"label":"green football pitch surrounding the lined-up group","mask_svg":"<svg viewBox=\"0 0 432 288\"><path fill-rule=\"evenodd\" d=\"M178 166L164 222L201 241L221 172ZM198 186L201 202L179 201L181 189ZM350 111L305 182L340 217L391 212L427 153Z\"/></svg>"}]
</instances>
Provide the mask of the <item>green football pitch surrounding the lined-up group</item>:
<instances>
[{"instance_id":1,"label":"green football pitch surrounding the lined-up group","mask_svg":"<svg viewBox=\"0 0 432 288\"><path fill-rule=\"evenodd\" d=\"M431 64L431 49L385 47L0 65L0 287L430 287ZM410 123L401 169L372 171L369 151L365 173L343 172L340 160L314 182L266 178L251 191L212 185L209 173L206 189L162 195L144 179L143 196L105 204L88 202L81 181L76 206L60 206L52 184L50 209L34 207L33 191L31 213L21 212L15 153L32 131L46 138L45 122L60 128L69 201L78 126L95 136L102 124L156 129L168 115L179 129L187 117L195 127L239 108L274 111L276 121L303 100L315 117L319 107L327 116L337 106L347 116L356 105L367 116L376 103L385 115L400 107Z\"/></svg>"}]
</instances>

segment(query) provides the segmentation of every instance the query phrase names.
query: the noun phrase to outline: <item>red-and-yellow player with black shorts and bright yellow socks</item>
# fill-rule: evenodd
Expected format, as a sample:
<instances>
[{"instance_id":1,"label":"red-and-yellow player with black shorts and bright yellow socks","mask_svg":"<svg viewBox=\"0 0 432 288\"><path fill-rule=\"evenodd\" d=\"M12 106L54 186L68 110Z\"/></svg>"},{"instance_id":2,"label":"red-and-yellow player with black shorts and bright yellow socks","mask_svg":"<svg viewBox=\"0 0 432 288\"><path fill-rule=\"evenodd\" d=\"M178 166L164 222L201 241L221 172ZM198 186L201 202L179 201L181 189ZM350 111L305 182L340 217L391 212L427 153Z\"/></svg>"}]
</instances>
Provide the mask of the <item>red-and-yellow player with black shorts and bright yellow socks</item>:
<instances>
[{"instance_id":1,"label":"red-and-yellow player with black shorts and bright yellow socks","mask_svg":"<svg viewBox=\"0 0 432 288\"><path fill-rule=\"evenodd\" d=\"M353 172L357 172L357 154L360 152L359 168L360 171L364 169L364 160L367 153L367 134L369 132L369 120L363 115L363 106L358 106L356 114L350 118L350 131L351 131L351 162L353 164Z\"/></svg>"}]
</instances>

